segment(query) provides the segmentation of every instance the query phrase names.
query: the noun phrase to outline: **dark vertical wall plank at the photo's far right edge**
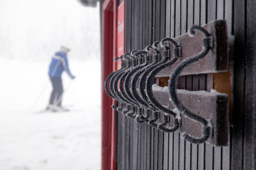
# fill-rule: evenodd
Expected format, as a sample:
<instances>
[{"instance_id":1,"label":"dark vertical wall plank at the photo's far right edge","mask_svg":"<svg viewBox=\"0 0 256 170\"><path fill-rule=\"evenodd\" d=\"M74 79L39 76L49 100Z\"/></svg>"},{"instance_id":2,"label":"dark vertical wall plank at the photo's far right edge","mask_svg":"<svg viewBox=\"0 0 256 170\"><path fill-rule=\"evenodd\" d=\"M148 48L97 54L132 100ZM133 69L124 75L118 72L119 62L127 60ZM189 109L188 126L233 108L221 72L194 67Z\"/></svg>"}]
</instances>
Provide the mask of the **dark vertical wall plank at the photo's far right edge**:
<instances>
[{"instance_id":1,"label":"dark vertical wall plank at the photo's far right edge","mask_svg":"<svg viewBox=\"0 0 256 170\"><path fill-rule=\"evenodd\" d=\"M255 1L247 1L246 3L246 46L245 46L245 62L246 62L246 85L245 85L245 139L244 139L244 160L243 169L256 169L256 3ZM254 148L254 149L253 149Z\"/></svg>"}]
</instances>

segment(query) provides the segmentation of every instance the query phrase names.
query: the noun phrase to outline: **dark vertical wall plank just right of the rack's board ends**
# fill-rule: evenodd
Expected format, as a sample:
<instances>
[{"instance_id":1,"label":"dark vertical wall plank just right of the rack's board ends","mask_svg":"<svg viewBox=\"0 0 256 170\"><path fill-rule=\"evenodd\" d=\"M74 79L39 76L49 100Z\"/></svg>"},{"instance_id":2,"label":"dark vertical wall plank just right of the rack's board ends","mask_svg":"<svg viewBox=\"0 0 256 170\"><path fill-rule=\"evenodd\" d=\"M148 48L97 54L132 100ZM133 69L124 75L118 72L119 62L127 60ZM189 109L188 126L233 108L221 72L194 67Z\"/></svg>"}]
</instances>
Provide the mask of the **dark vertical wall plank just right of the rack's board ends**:
<instances>
[{"instance_id":1,"label":"dark vertical wall plank just right of the rack's board ends","mask_svg":"<svg viewBox=\"0 0 256 170\"><path fill-rule=\"evenodd\" d=\"M231 169L243 168L243 115L245 80L245 1L234 1L234 85L233 85L233 138Z\"/></svg>"}]
</instances>

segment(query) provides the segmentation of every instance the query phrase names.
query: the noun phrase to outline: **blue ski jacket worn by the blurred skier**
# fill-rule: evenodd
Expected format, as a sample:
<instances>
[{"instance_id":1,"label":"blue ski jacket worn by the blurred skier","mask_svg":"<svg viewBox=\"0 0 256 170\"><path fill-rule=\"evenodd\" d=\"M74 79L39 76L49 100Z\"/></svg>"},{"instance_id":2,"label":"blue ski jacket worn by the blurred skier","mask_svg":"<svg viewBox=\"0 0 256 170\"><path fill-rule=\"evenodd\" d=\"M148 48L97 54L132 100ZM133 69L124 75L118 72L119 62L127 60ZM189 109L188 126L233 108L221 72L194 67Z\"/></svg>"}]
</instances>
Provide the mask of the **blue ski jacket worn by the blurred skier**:
<instances>
[{"instance_id":1,"label":"blue ski jacket worn by the blurred skier","mask_svg":"<svg viewBox=\"0 0 256 170\"><path fill-rule=\"evenodd\" d=\"M69 71L67 55L63 52L56 52L55 56L52 57L48 75L60 78L64 70L71 78L75 78Z\"/></svg>"}]
</instances>

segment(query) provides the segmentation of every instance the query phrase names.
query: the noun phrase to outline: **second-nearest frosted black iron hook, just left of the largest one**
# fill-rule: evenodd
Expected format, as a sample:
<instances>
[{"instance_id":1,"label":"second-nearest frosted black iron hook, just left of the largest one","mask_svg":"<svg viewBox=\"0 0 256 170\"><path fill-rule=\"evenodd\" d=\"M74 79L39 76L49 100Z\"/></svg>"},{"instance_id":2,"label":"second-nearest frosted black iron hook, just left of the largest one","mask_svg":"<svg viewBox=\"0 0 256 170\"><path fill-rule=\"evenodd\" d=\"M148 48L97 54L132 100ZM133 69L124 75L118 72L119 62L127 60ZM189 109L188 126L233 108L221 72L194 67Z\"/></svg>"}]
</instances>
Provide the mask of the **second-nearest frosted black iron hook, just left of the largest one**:
<instances>
[{"instance_id":1,"label":"second-nearest frosted black iron hook, just left of the largest one","mask_svg":"<svg viewBox=\"0 0 256 170\"><path fill-rule=\"evenodd\" d=\"M181 48L179 47L179 45L177 45L177 43L174 40L170 38L165 38L161 41L161 44L164 45L164 48L165 48L164 57L167 57L167 56L170 57L170 48L168 48L169 43L167 41L174 46L174 57L170 61L155 67L155 69L152 70L151 73L148 75L148 78L146 80L146 95L148 99L151 101L151 103L156 108L159 109L159 111L162 111L165 113L164 115L164 117L166 117L164 118L165 121L162 124L158 125L158 129L171 133L179 128L179 120L178 120L179 118L177 117L176 113L172 112L170 109L163 107L160 103L158 103L158 101L155 99L154 94L152 92L152 82L155 78L155 75L158 74L162 69L166 67L170 67L174 62L177 61L177 59L180 57L180 54L181 54ZM166 128L164 126L166 125L166 120L168 120L168 116L170 115L174 117L174 126L172 128Z\"/></svg>"}]
</instances>

